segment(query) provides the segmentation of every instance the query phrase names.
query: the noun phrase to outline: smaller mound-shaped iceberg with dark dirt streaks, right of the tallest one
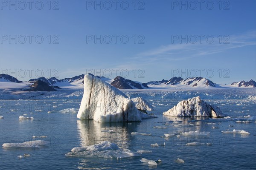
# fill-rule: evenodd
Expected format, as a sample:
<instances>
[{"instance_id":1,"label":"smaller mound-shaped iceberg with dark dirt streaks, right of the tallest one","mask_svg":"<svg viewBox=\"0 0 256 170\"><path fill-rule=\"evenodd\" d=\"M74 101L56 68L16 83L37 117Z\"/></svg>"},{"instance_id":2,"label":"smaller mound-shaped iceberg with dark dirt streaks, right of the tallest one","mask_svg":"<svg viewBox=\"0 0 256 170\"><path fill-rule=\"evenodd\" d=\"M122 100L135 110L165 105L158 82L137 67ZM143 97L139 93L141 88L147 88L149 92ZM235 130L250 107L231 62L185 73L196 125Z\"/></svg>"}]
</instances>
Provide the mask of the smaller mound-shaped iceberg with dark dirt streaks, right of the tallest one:
<instances>
[{"instance_id":1,"label":"smaller mound-shaped iceberg with dark dirt streaks, right of the tallest one","mask_svg":"<svg viewBox=\"0 0 256 170\"><path fill-rule=\"evenodd\" d=\"M223 113L218 106L209 105L197 96L179 102L169 111L163 112L163 115L176 117L222 117Z\"/></svg>"}]
</instances>

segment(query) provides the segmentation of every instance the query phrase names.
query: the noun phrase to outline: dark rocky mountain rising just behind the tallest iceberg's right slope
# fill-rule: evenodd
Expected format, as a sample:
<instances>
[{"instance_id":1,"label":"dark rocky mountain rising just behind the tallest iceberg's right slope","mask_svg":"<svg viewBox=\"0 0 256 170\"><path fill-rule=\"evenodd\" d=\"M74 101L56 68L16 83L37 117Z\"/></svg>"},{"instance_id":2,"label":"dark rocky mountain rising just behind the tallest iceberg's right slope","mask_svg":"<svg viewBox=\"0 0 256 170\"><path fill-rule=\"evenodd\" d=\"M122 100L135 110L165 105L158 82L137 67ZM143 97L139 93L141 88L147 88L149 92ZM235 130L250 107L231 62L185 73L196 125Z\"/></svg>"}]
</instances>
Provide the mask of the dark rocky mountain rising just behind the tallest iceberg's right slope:
<instances>
[{"instance_id":1,"label":"dark rocky mountain rising just behind the tallest iceberg's right slope","mask_svg":"<svg viewBox=\"0 0 256 170\"><path fill-rule=\"evenodd\" d=\"M113 81L110 83L112 86L118 89L145 89L148 88L146 83L141 82L134 82L130 79L125 79L123 77L117 76Z\"/></svg>"}]
</instances>

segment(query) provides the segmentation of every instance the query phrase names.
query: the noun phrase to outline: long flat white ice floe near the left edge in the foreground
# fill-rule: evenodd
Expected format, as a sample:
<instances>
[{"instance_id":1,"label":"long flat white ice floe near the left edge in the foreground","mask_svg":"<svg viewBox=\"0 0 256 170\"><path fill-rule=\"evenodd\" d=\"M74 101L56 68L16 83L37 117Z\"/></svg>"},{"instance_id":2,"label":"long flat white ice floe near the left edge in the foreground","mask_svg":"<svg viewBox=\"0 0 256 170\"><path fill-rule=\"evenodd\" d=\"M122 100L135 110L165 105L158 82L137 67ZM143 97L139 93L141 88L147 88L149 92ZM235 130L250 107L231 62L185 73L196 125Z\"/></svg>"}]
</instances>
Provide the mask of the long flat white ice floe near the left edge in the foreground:
<instances>
[{"instance_id":1,"label":"long flat white ice floe near the left edge in the foreground","mask_svg":"<svg viewBox=\"0 0 256 170\"><path fill-rule=\"evenodd\" d=\"M35 141L28 141L23 143L4 143L3 147L42 147L46 144L48 144L48 141L43 140L35 140Z\"/></svg>"}]
</instances>

